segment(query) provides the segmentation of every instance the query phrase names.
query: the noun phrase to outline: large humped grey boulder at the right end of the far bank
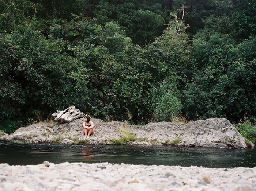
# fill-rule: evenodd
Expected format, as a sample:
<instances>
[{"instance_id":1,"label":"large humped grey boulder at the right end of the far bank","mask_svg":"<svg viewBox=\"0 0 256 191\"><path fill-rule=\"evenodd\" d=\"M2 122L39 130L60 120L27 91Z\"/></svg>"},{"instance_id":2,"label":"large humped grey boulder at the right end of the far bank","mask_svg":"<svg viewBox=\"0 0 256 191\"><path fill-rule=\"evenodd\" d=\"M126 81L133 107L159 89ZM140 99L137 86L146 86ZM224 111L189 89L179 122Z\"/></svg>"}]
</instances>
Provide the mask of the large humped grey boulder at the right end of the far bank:
<instances>
[{"instance_id":1,"label":"large humped grey boulder at the right end of the far bank","mask_svg":"<svg viewBox=\"0 0 256 191\"><path fill-rule=\"evenodd\" d=\"M179 145L197 147L246 148L244 137L224 118L191 121L184 125L186 135ZM188 139L189 138L189 139Z\"/></svg>"}]
</instances>

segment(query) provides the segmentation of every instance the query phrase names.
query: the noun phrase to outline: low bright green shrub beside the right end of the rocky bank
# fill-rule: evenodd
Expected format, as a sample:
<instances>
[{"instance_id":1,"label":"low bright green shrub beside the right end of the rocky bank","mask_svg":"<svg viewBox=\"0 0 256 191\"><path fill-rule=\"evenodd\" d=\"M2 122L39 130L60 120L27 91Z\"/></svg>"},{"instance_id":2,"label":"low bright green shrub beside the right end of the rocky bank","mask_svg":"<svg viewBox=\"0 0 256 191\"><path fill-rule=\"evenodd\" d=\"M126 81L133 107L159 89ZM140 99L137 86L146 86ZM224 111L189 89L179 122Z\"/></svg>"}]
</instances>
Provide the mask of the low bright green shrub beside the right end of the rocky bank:
<instances>
[{"instance_id":1,"label":"low bright green shrub beside the right end of the rocky bank","mask_svg":"<svg viewBox=\"0 0 256 191\"><path fill-rule=\"evenodd\" d=\"M252 141L252 143L256 143L256 125L252 124L250 120L235 124L234 126L244 138Z\"/></svg>"}]
</instances>

